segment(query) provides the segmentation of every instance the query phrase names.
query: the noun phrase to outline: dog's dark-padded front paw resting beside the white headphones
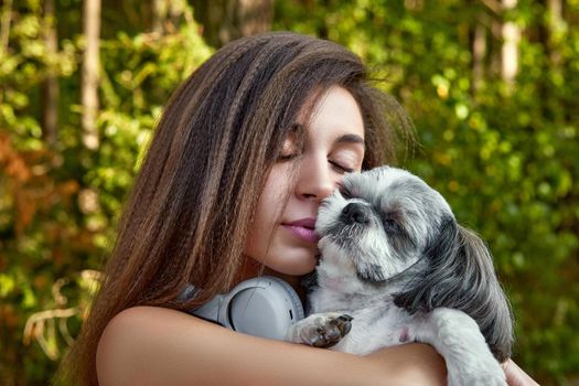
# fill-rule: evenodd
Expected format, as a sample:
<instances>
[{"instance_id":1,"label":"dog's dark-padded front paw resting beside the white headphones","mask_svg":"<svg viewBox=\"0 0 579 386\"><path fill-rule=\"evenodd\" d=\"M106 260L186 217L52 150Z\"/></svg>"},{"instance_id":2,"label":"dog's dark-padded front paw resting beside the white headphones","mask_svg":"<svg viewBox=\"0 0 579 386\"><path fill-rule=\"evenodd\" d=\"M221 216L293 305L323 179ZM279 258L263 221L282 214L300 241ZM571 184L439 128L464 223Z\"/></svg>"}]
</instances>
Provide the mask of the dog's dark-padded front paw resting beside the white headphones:
<instances>
[{"instance_id":1,"label":"dog's dark-padded front paw resting beside the white headphones","mask_svg":"<svg viewBox=\"0 0 579 386\"><path fill-rule=\"evenodd\" d=\"M352 329L352 317L340 312L317 313L298 322L291 341L314 347L331 347Z\"/></svg>"}]
</instances>

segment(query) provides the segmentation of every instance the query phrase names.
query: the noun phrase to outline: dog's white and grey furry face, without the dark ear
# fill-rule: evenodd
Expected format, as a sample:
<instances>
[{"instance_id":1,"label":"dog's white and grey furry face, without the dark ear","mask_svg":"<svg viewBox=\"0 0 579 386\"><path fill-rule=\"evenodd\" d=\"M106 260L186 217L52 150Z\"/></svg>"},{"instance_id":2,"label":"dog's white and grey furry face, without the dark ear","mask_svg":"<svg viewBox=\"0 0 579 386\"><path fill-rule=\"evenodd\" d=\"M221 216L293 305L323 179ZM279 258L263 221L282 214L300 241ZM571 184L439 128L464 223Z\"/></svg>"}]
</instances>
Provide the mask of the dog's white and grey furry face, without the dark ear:
<instances>
[{"instance_id":1,"label":"dog's white and grey furry face, without the dark ear","mask_svg":"<svg viewBox=\"0 0 579 386\"><path fill-rule=\"evenodd\" d=\"M444 218L453 221L444 199L407 171L349 174L318 212L324 274L376 287L417 262Z\"/></svg>"}]
</instances>

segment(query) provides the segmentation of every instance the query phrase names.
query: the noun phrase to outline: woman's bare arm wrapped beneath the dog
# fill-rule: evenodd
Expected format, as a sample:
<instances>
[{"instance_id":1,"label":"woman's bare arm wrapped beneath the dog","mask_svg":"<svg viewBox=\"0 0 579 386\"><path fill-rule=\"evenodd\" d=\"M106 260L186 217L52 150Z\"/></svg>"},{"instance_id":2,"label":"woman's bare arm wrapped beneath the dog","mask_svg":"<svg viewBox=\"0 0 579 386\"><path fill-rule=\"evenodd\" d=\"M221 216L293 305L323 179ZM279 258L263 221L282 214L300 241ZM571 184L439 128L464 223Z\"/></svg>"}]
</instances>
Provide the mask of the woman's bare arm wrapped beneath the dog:
<instances>
[{"instance_id":1,"label":"woman's bare arm wrapped beneath the dog","mask_svg":"<svg viewBox=\"0 0 579 386\"><path fill-rule=\"evenodd\" d=\"M406 344L366 357L235 333L185 313L137 307L99 342L100 386L444 385L444 361Z\"/></svg>"}]
</instances>

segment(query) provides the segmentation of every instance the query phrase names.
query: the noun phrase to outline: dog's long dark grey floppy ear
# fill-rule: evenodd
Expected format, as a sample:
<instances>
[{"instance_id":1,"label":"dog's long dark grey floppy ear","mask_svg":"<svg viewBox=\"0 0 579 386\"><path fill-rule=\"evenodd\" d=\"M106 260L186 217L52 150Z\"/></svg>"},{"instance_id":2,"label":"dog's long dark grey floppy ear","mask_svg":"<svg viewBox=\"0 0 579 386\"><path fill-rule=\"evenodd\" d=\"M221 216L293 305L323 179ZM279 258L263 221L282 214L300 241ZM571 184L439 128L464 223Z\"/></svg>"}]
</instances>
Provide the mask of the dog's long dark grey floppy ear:
<instances>
[{"instance_id":1,"label":"dog's long dark grey floppy ear","mask_svg":"<svg viewBox=\"0 0 579 386\"><path fill-rule=\"evenodd\" d=\"M513 319L484 243L448 216L425 249L427 268L395 296L409 313L458 309L476 321L494 356L511 356Z\"/></svg>"}]
</instances>

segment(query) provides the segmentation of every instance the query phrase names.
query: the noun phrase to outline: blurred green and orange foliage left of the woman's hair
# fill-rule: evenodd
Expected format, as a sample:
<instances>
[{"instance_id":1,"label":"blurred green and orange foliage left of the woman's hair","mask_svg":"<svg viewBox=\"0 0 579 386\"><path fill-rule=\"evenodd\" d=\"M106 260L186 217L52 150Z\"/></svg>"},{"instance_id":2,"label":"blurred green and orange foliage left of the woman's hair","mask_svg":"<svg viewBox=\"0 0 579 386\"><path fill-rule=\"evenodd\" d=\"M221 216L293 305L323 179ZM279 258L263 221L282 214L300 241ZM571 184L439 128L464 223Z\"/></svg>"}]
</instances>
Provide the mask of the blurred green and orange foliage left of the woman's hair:
<instances>
[{"instance_id":1,"label":"blurred green and orange foliage left of the woman's hair","mask_svg":"<svg viewBox=\"0 0 579 386\"><path fill-rule=\"evenodd\" d=\"M72 12L79 6L68 3ZM66 13L66 4L60 7ZM189 8L163 34L104 31L111 37L100 41L100 146L89 151L81 142L83 36L64 36L50 54L44 36L56 25L41 15L40 4L7 11L9 45L0 47L0 379L44 385L85 317L95 279L88 269L99 269L112 246L162 105L212 49ZM117 18L122 24L122 14ZM61 88L53 147L40 122L49 75Z\"/></svg>"}]
</instances>

